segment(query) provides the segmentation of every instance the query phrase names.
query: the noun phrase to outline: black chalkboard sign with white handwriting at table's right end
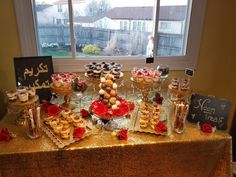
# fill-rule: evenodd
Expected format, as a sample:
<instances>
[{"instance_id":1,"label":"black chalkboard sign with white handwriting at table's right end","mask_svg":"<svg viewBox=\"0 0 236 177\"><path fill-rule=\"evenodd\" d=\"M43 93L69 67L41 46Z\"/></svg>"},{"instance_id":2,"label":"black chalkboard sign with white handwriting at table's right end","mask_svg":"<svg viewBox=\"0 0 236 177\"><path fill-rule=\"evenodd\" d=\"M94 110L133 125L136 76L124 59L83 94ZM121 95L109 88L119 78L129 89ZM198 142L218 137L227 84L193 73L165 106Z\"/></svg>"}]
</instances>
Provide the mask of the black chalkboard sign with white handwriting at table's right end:
<instances>
[{"instance_id":1,"label":"black chalkboard sign with white handwriting at table's right end","mask_svg":"<svg viewBox=\"0 0 236 177\"><path fill-rule=\"evenodd\" d=\"M193 94L187 120L193 123L207 122L219 130L226 130L230 105L227 100Z\"/></svg>"}]
</instances>

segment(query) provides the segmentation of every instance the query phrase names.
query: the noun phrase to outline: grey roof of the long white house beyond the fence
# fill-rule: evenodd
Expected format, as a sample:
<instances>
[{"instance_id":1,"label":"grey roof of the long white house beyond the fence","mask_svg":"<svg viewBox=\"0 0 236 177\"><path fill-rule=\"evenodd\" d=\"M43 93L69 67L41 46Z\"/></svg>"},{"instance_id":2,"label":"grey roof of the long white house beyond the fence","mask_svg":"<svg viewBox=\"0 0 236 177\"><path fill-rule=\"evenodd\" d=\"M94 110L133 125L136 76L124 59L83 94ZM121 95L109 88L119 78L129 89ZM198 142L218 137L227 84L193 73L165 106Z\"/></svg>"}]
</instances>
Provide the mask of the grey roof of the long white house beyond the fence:
<instances>
[{"instance_id":1,"label":"grey roof of the long white house beyond the fence","mask_svg":"<svg viewBox=\"0 0 236 177\"><path fill-rule=\"evenodd\" d=\"M183 21L186 6L161 6L159 19L162 21ZM102 16L79 16L79 23L93 23L103 17L119 20L152 20L153 7L115 7Z\"/></svg>"}]
</instances>

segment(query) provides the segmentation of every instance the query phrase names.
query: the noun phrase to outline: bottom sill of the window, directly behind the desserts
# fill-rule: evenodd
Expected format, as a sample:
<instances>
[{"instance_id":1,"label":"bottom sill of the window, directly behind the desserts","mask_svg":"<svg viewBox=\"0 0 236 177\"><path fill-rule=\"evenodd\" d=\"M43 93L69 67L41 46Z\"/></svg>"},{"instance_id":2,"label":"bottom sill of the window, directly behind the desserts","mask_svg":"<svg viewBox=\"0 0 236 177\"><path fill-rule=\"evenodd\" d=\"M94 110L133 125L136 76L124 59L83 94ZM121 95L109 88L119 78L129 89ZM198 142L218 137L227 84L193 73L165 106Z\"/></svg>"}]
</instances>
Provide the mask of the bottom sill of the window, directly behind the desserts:
<instances>
[{"instance_id":1,"label":"bottom sill of the window, directly behind the desserts","mask_svg":"<svg viewBox=\"0 0 236 177\"><path fill-rule=\"evenodd\" d=\"M83 57L83 58L53 58L53 66L55 72L83 72L84 65L90 62L117 62L123 65L123 71L130 71L135 66L139 67L153 67L156 68L158 64L167 64L171 70L184 70L185 68L196 69L197 63L194 63L188 56L179 57L158 57L154 59L154 63L146 64L145 57Z\"/></svg>"}]
</instances>

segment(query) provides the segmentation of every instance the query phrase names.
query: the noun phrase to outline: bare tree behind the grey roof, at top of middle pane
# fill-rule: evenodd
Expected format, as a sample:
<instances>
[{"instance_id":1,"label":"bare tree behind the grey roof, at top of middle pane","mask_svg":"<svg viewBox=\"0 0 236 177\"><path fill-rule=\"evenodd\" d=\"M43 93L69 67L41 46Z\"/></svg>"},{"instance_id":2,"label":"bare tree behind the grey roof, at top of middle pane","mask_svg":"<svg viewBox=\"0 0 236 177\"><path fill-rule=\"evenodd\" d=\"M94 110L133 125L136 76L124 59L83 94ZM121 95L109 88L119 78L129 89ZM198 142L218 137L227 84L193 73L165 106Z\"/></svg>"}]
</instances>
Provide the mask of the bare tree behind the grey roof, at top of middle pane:
<instances>
[{"instance_id":1,"label":"bare tree behind the grey roof, at top of middle pane","mask_svg":"<svg viewBox=\"0 0 236 177\"><path fill-rule=\"evenodd\" d=\"M90 0L85 7L86 16L98 16L103 15L111 9L110 1L108 0Z\"/></svg>"}]
</instances>

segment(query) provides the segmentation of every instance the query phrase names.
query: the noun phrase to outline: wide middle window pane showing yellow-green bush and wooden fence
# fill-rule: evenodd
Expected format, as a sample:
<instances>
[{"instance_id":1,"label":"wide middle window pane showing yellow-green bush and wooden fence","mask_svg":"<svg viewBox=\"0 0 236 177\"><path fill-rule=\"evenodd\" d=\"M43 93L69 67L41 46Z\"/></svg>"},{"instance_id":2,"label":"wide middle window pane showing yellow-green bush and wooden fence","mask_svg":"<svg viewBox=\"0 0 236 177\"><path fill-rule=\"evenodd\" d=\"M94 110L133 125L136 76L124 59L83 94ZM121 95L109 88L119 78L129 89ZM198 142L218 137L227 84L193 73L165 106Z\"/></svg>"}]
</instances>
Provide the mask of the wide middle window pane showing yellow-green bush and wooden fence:
<instances>
[{"instance_id":1,"label":"wide middle window pane showing yellow-green bush and wooden fence","mask_svg":"<svg viewBox=\"0 0 236 177\"><path fill-rule=\"evenodd\" d=\"M154 0L73 0L77 56L146 55Z\"/></svg>"}]
</instances>

